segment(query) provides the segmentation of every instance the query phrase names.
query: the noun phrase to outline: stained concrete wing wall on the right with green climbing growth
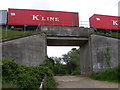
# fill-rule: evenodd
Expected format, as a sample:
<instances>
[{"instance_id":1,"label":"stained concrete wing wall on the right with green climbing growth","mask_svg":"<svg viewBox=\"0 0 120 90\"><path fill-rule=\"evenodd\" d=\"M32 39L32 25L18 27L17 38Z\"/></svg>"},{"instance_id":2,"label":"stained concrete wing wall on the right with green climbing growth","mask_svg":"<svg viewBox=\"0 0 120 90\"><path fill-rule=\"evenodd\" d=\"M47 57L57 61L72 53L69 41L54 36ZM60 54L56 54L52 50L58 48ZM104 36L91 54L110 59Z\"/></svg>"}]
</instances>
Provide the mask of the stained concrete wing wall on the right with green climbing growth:
<instances>
[{"instance_id":1,"label":"stained concrete wing wall on the right with green climbing growth","mask_svg":"<svg viewBox=\"0 0 120 90\"><path fill-rule=\"evenodd\" d=\"M119 43L119 39L91 35L91 57L94 72L120 64Z\"/></svg>"}]
</instances>

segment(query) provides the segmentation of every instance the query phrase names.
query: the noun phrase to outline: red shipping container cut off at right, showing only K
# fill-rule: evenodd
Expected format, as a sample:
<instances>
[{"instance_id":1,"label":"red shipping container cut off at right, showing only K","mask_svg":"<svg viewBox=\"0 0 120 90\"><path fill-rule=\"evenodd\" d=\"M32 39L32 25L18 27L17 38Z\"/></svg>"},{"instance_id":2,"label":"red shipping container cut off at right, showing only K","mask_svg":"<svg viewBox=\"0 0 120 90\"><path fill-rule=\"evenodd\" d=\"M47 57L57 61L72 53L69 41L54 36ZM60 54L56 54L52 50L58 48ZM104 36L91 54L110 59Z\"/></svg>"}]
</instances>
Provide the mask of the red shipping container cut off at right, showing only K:
<instances>
[{"instance_id":1,"label":"red shipping container cut off at right, showing only K","mask_svg":"<svg viewBox=\"0 0 120 90\"><path fill-rule=\"evenodd\" d=\"M89 18L90 27L93 27L96 29L118 30L119 29L118 18L120 17L94 14L92 17Z\"/></svg>"}]
</instances>

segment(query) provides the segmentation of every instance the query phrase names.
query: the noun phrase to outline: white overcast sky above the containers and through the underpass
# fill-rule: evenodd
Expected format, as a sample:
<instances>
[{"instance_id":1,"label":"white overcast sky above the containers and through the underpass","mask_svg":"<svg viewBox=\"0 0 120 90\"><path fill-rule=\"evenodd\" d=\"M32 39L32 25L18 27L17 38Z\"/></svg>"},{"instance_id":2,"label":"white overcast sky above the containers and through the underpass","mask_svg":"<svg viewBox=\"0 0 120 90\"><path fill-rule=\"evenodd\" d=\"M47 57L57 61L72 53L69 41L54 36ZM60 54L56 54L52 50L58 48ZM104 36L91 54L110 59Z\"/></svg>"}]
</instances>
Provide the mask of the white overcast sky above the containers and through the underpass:
<instances>
[{"instance_id":1,"label":"white overcast sky above the containers and through the underpass","mask_svg":"<svg viewBox=\"0 0 120 90\"><path fill-rule=\"evenodd\" d=\"M0 10L8 8L78 12L81 26L89 27L93 14L118 16L120 0L1 0ZM82 22L81 21L87 21ZM60 57L73 47L48 47L48 56ZM76 47L79 48L79 47Z\"/></svg>"}]
</instances>

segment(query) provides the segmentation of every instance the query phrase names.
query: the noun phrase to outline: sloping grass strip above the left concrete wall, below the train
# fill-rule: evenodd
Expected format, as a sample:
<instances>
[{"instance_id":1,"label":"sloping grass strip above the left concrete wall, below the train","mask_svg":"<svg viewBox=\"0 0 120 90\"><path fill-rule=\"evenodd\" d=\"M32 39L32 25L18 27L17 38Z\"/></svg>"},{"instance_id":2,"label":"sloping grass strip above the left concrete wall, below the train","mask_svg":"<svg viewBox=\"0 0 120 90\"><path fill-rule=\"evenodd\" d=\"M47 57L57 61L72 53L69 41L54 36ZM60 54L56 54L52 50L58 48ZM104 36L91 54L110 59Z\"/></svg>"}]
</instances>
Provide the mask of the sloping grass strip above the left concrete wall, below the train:
<instances>
[{"instance_id":1,"label":"sloping grass strip above the left concrete wall, below the train","mask_svg":"<svg viewBox=\"0 0 120 90\"><path fill-rule=\"evenodd\" d=\"M28 35L38 31L15 31L15 30L9 30L9 29L6 31L5 28L2 28L2 30L0 29L0 32L2 32L2 37L0 37L0 39L6 39L11 37Z\"/></svg>"}]
</instances>

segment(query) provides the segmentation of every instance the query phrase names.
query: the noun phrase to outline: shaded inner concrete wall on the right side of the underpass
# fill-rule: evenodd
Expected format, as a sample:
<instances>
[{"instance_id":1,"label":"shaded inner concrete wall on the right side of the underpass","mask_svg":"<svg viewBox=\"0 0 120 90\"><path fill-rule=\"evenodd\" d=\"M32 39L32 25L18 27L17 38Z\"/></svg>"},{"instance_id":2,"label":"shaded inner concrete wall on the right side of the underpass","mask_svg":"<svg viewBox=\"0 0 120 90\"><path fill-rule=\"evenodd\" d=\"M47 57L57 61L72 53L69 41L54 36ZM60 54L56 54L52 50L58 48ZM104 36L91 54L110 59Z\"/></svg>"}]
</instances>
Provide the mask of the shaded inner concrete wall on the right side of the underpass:
<instances>
[{"instance_id":1,"label":"shaded inner concrete wall on the right side of the underpass","mask_svg":"<svg viewBox=\"0 0 120 90\"><path fill-rule=\"evenodd\" d=\"M87 41L84 45L80 46L80 68L81 74L92 73L92 62L90 52L90 42Z\"/></svg>"}]
</instances>

